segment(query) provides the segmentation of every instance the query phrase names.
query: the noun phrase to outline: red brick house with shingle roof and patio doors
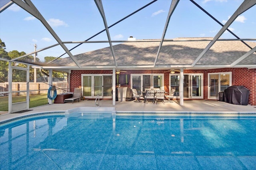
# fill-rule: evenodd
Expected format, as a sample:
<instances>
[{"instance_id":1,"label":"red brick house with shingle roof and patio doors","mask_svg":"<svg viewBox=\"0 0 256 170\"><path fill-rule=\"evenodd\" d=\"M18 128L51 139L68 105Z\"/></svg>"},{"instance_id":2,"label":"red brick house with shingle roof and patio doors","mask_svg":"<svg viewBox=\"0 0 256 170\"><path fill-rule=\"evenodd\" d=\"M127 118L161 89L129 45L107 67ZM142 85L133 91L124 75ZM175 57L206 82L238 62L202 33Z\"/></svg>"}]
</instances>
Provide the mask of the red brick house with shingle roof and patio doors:
<instances>
[{"instance_id":1,"label":"red brick house with shingle roof and patio doors","mask_svg":"<svg viewBox=\"0 0 256 170\"><path fill-rule=\"evenodd\" d=\"M219 92L229 86L244 86L250 90L249 104L256 105L256 53L249 53L242 41L225 39L202 53L210 41L165 39L161 47L160 40L126 41L113 45L114 55L110 47L74 55L80 67L71 57L52 63L69 73L70 91L81 86L85 98L99 94L112 99L112 89L125 86L139 91L174 88L174 98L181 100L218 100ZM246 44L256 47L255 42Z\"/></svg>"}]
</instances>

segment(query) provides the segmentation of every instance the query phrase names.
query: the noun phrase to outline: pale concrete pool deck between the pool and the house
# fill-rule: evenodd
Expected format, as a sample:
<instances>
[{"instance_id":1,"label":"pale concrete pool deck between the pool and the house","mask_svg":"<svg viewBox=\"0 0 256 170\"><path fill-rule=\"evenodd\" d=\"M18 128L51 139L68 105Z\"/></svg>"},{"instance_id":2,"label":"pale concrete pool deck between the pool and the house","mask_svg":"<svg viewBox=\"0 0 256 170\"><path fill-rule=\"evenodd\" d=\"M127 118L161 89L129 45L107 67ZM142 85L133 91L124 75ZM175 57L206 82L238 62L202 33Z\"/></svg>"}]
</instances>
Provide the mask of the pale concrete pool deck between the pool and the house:
<instances>
[{"instance_id":1,"label":"pale concrete pool deck between the pool and the house","mask_svg":"<svg viewBox=\"0 0 256 170\"><path fill-rule=\"evenodd\" d=\"M82 100L65 104L52 104L47 106L40 106L30 108L32 111L24 113L6 113L0 115L0 121L29 115L33 113L42 113L49 111L66 111L75 107L96 107L94 100ZM115 107L118 112L170 112L170 113L205 113L205 112L218 112L218 113L255 113L256 106L241 106L228 104L226 102L211 101L211 100L184 100L184 105L180 106L179 100L174 100L172 103L158 102L153 104L148 102L116 102L112 105L112 100L100 100L100 107Z\"/></svg>"}]
</instances>

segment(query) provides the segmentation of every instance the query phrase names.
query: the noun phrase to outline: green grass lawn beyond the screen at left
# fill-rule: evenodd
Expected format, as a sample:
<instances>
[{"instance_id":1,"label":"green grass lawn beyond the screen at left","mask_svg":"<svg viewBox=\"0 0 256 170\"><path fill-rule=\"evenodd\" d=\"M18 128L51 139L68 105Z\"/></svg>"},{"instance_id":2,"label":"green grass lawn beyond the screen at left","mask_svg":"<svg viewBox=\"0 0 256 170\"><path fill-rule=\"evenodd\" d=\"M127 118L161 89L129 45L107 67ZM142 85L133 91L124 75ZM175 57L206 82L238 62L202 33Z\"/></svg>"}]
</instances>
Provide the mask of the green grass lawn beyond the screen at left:
<instances>
[{"instance_id":1,"label":"green grass lawn beyond the screen at left","mask_svg":"<svg viewBox=\"0 0 256 170\"><path fill-rule=\"evenodd\" d=\"M29 108L48 104L47 94L33 94L30 95L29 98ZM14 96L12 98L12 103L24 101L26 101L26 96ZM0 97L0 111L8 111L8 96Z\"/></svg>"}]
</instances>

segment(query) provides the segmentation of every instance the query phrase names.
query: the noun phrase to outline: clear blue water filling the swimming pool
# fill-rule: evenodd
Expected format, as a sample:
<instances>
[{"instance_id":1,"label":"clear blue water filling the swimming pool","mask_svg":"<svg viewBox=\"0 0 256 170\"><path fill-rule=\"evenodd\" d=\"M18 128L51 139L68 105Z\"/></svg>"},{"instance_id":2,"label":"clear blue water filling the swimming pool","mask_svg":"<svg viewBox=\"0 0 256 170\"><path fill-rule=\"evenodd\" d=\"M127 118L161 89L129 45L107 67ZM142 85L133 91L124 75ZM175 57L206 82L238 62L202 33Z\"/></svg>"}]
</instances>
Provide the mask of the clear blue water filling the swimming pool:
<instances>
[{"instance_id":1,"label":"clear blue water filling the swimming pool","mask_svg":"<svg viewBox=\"0 0 256 170\"><path fill-rule=\"evenodd\" d=\"M0 124L0 169L256 169L256 117L75 114Z\"/></svg>"}]
</instances>

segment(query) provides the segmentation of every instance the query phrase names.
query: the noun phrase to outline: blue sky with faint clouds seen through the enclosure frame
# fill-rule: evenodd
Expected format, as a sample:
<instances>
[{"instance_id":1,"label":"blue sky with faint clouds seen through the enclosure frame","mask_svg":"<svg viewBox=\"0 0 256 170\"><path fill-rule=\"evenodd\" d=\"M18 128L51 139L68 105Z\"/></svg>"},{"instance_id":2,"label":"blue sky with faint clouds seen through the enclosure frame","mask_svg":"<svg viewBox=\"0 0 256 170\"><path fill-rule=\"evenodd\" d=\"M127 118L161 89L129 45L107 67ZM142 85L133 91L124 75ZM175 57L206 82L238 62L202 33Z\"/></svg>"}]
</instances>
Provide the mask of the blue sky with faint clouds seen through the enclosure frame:
<instances>
[{"instance_id":1,"label":"blue sky with faint clouds seen through the enclosure frame","mask_svg":"<svg viewBox=\"0 0 256 170\"><path fill-rule=\"evenodd\" d=\"M6 0L1 0L1 3ZM214 18L225 24L242 4L242 0L194 0ZM105 29L94 0L32 0L44 19L62 41L85 41ZM128 16L151 0L102 0L108 26ZM109 29L111 40L161 39L171 0L158 0ZM239 38L256 38L256 5L242 13L229 29ZM165 39L178 37L214 37L221 26L189 0L180 0L170 18ZM44 25L22 8L13 4L0 13L0 38L6 51L31 53L57 43ZM229 32L220 38L235 39ZM106 31L89 41L107 41ZM116 43L113 43L115 45ZM78 44L65 44L68 49ZM72 55L109 47L109 43L84 43L71 51ZM56 46L38 53L44 57L59 57L65 51ZM64 55L62 58L68 57Z\"/></svg>"}]
</instances>

